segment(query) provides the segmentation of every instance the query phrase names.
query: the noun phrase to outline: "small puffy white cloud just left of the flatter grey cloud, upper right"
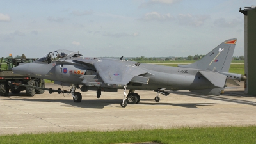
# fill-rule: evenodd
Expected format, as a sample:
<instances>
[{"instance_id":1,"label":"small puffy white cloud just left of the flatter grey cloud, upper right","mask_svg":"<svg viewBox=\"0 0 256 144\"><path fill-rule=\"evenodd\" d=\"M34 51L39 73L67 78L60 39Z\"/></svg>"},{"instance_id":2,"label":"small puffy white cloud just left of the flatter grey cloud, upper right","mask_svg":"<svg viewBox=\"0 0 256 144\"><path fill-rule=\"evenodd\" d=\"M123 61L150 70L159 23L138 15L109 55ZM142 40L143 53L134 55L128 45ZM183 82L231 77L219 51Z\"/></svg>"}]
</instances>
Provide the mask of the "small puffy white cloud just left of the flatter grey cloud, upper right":
<instances>
[{"instance_id":1,"label":"small puffy white cloud just left of the flatter grey cloud, upper right","mask_svg":"<svg viewBox=\"0 0 256 144\"><path fill-rule=\"evenodd\" d=\"M160 13L157 12L150 12L146 13L141 20L171 20L173 17L170 15L170 13L167 13L165 15L161 15Z\"/></svg>"}]
</instances>

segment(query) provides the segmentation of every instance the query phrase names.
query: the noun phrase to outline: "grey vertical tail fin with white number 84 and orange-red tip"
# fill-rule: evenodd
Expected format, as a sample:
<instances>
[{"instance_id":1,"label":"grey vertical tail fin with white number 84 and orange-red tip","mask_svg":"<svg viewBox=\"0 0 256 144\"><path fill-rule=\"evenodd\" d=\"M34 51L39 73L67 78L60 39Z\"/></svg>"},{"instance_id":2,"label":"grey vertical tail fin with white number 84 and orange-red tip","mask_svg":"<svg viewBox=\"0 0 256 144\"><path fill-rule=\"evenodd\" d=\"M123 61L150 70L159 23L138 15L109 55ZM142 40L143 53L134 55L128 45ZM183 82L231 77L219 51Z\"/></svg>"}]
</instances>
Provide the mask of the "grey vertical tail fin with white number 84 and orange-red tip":
<instances>
[{"instance_id":1,"label":"grey vertical tail fin with white number 84 and orange-red tip","mask_svg":"<svg viewBox=\"0 0 256 144\"><path fill-rule=\"evenodd\" d=\"M228 72L236 46L236 41L236 38L225 40L225 42L218 45L215 49L206 54L201 60L189 65L178 65L178 67Z\"/></svg>"}]
</instances>

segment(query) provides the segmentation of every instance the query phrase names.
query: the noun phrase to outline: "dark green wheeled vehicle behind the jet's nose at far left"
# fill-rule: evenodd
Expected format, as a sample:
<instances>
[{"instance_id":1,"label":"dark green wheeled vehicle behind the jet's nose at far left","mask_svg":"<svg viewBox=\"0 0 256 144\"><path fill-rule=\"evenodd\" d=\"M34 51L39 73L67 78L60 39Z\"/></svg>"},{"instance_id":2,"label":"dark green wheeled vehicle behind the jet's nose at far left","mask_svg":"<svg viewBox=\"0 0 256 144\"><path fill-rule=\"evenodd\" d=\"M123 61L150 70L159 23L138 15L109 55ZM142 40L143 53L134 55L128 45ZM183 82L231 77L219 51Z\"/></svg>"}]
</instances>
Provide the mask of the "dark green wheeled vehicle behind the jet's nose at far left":
<instances>
[{"instance_id":1,"label":"dark green wheeled vehicle behind the jet's nose at far left","mask_svg":"<svg viewBox=\"0 0 256 144\"><path fill-rule=\"evenodd\" d=\"M14 74L12 68L19 65L19 63L31 63L35 59L27 59L24 54L21 58L13 58L12 54L6 58L0 60L0 95L8 96L11 91L13 94L20 93L20 91L26 90L27 96L34 96L36 94L44 93L42 89L35 89L33 87L17 86L15 83L26 84L29 86L36 86L45 88L44 79L37 79L35 77L22 76L20 74Z\"/></svg>"}]
</instances>

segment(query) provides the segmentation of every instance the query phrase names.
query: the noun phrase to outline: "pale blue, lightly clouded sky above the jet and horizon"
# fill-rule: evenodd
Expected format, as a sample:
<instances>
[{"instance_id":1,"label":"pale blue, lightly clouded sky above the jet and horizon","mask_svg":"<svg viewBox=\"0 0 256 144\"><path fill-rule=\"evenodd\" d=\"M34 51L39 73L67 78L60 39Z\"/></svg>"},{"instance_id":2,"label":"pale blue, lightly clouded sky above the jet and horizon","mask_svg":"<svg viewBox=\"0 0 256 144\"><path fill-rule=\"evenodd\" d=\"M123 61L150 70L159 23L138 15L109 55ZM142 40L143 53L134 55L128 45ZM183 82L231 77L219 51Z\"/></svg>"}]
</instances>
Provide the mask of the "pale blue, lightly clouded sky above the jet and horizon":
<instances>
[{"instance_id":1,"label":"pale blue, lightly clouded sky above the jet and horizon","mask_svg":"<svg viewBox=\"0 0 256 144\"><path fill-rule=\"evenodd\" d=\"M253 3L254 2L254 3ZM252 0L0 1L0 56L39 58L56 49L84 56L207 54L237 38L244 55L244 15Z\"/></svg>"}]
</instances>

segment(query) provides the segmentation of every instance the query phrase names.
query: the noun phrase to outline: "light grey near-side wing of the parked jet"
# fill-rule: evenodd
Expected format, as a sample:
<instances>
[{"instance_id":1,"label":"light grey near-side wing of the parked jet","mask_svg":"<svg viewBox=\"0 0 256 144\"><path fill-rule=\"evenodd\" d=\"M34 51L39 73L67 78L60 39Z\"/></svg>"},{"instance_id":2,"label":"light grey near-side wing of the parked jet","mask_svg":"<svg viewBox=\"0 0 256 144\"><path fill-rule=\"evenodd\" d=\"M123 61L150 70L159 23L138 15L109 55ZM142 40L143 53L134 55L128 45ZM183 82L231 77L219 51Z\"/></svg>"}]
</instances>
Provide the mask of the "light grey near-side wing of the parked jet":
<instances>
[{"instance_id":1,"label":"light grey near-side wing of the parked jet","mask_svg":"<svg viewBox=\"0 0 256 144\"><path fill-rule=\"evenodd\" d=\"M152 75L147 70L137 67L132 61L100 59L95 61L79 60L87 65L93 65L102 81L111 87L123 87L129 82L148 84L148 77Z\"/></svg>"}]
</instances>

